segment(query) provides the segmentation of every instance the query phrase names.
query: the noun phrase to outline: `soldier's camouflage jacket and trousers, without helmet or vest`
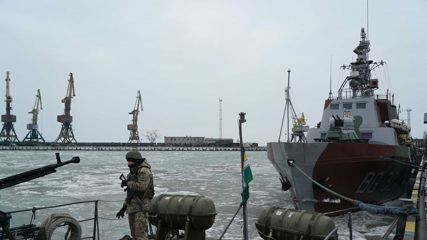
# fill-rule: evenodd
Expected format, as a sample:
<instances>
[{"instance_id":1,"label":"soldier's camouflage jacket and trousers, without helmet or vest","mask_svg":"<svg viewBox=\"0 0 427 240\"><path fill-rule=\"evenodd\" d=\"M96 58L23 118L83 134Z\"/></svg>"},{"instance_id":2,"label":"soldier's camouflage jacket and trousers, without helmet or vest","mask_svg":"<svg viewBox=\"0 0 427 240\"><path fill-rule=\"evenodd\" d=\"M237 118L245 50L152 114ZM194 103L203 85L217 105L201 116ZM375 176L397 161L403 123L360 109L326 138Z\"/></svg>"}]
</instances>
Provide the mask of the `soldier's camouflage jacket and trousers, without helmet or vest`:
<instances>
[{"instance_id":1,"label":"soldier's camouflage jacket and trousers, without helmet or vest","mask_svg":"<svg viewBox=\"0 0 427 240\"><path fill-rule=\"evenodd\" d=\"M145 159L144 162L138 165L137 167L131 168L130 173L127 175L127 180L130 180L129 177L132 173L136 173L138 181L127 182L127 187L135 192L144 192L145 190L147 190L153 178L153 174L151 173L150 169L151 166L148 163L147 159ZM126 196L123 205L127 207L126 213L129 215L129 227L132 238L133 240L148 240L146 230L147 219L141 211L141 208L139 207L136 198L132 197L130 203L127 203L128 197L131 196L129 194ZM144 211L148 214L148 211L150 210L151 199L142 199L142 197L140 197L140 199L142 200L141 205Z\"/></svg>"}]
</instances>

